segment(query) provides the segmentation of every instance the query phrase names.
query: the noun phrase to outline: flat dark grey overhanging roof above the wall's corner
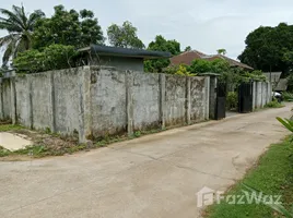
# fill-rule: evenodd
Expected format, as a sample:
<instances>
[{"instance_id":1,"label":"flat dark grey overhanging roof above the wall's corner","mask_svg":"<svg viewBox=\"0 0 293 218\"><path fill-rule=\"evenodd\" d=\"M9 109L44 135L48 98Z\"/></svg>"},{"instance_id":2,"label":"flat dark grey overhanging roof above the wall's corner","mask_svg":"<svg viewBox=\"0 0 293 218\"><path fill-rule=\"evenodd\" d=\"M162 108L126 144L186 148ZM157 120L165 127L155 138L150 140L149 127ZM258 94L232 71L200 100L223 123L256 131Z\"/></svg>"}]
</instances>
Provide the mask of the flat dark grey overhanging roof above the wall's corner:
<instances>
[{"instance_id":1,"label":"flat dark grey overhanging roof above the wall's corner","mask_svg":"<svg viewBox=\"0 0 293 218\"><path fill-rule=\"evenodd\" d=\"M97 46L91 45L89 47L79 49L81 52L92 52L99 56L116 56L116 57L131 57L131 58L143 58L143 59L161 59L171 58L171 52L165 51L151 51L143 49L129 49L120 47L109 47L109 46Z\"/></svg>"}]
</instances>

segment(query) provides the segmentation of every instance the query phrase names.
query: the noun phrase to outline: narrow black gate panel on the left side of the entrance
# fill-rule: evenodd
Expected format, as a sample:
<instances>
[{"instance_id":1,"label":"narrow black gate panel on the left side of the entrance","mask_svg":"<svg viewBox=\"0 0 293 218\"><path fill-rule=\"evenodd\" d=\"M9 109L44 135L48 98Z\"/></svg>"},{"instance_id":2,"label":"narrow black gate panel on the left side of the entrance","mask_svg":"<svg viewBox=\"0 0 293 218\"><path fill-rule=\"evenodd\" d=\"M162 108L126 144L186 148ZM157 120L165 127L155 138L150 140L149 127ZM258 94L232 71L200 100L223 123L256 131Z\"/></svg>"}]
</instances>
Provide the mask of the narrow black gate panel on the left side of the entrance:
<instances>
[{"instance_id":1,"label":"narrow black gate panel on the left side of the entrance","mask_svg":"<svg viewBox=\"0 0 293 218\"><path fill-rule=\"evenodd\" d=\"M218 83L215 120L221 120L224 119L225 117L226 117L226 84Z\"/></svg>"}]
</instances>

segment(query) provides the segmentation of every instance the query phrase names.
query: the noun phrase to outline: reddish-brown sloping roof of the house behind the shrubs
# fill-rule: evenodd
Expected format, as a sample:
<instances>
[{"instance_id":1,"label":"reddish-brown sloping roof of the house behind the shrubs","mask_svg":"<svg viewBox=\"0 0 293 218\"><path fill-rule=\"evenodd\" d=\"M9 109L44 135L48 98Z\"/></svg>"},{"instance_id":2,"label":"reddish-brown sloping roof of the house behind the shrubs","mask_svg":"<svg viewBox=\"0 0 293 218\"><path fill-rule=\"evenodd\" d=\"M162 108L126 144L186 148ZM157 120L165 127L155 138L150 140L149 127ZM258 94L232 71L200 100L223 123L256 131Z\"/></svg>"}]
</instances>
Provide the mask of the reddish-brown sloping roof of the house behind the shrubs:
<instances>
[{"instance_id":1,"label":"reddish-brown sloping roof of the house behind the shrubs","mask_svg":"<svg viewBox=\"0 0 293 218\"><path fill-rule=\"evenodd\" d=\"M225 56L222 56L222 55L209 56L197 50L183 52L178 56L174 56L169 60L171 60L171 65L179 65L181 63L190 65L195 59L202 59L202 60L208 60L208 61L213 61L215 59L224 59L230 63L232 68L242 68L248 71L254 70L251 66L244 64L239 61L233 60L231 58L227 58Z\"/></svg>"}]
</instances>

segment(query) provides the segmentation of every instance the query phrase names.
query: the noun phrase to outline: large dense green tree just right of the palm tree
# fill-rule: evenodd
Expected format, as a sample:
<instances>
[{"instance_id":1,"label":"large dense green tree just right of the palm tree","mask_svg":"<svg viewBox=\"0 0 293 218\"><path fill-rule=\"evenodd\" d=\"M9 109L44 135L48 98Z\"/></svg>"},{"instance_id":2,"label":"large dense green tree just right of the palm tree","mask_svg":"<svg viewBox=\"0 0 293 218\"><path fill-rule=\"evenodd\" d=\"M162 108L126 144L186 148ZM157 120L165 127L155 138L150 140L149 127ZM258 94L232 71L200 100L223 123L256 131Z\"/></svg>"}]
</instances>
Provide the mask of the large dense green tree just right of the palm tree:
<instances>
[{"instance_id":1,"label":"large dense green tree just right of the palm tree","mask_svg":"<svg viewBox=\"0 0 293 218\"><path fill-rule=\"evenodd\" d=\"M40 49L51 44L70 45L75 48L103 44L104 36L94 13L89 10L67 11L63 5L54 8L49 19L37 22L34 32L34 48Z\"/></svg>"}]
</instances>

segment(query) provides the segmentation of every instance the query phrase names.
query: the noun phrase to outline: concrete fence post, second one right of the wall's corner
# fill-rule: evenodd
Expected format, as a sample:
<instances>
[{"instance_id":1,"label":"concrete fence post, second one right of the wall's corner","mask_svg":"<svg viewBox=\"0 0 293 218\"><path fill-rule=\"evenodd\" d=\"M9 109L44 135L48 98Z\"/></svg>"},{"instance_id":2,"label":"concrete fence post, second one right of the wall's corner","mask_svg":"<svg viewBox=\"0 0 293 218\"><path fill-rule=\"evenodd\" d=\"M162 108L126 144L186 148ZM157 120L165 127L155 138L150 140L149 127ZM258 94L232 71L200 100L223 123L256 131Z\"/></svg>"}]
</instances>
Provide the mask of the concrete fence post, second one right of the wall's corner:
<instances>
[{"instance_id":1,"label":"concrete fence post, second one right of the wall's corner","mask_svg":"<svg viewBox=\"0 0 293 218\"><path fill-rule=\"evenodd\" d=\"M165 124L165 107L166 107L166 75L161 73L159 77L159 89L160 89L160 122L162 130L166 128Z\"/></svg>"}]
</instances>

